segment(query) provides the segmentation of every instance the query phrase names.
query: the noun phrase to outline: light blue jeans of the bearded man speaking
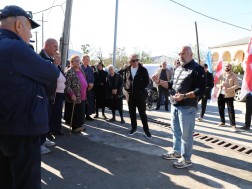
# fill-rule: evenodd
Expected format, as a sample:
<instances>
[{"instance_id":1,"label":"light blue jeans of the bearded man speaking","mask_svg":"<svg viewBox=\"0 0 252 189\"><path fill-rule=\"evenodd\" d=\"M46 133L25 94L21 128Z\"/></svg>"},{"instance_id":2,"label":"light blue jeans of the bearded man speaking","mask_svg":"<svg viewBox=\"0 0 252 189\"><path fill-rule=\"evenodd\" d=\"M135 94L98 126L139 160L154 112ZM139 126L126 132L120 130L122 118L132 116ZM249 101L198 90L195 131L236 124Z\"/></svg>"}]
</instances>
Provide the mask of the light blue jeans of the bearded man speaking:
<instances>
[{"instance_id":1,"label":"light blue jeans of the bearded man speaking","mask_svg":"<svg viewBox=\"0 0 252 189\"><path fill-rule=\"evenodd\" d=\"M185 160L190 160L192 156L196 110L196 107L171 105L173 151Z\"/></svg>"}]
</instances>

